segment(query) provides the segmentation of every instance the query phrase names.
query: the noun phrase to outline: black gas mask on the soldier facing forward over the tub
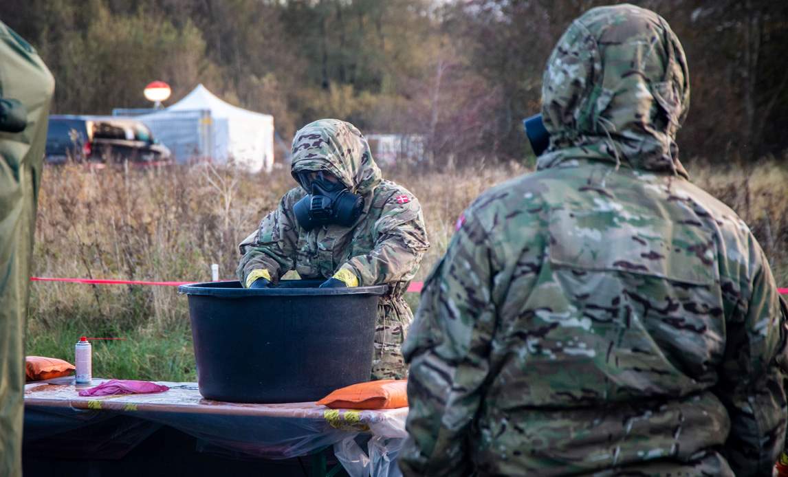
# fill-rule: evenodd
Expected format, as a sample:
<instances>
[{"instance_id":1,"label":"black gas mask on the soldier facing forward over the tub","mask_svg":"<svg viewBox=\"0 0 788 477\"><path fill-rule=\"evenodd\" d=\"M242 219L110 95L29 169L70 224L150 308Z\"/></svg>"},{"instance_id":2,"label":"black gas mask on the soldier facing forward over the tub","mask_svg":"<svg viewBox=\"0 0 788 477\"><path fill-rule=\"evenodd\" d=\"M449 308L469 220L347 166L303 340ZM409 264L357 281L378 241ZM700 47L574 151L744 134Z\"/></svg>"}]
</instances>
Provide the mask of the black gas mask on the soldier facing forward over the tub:
<instances>
[{"instance_id":1,"label":"black gas mask on the soldier facing forward over the tub","mask_svg":"<svg viewBox=\"0 0 788 477\"><path fill-rule=\"evenodd\" d=\"M311 230L319 225L336 224L350 227L359 219L364 209L364 198L353 194L336 178L327 179L322 171L302 171L299 182L311 194L293 205L293 213L299 225Z\"/></svg>"}]
</instances>

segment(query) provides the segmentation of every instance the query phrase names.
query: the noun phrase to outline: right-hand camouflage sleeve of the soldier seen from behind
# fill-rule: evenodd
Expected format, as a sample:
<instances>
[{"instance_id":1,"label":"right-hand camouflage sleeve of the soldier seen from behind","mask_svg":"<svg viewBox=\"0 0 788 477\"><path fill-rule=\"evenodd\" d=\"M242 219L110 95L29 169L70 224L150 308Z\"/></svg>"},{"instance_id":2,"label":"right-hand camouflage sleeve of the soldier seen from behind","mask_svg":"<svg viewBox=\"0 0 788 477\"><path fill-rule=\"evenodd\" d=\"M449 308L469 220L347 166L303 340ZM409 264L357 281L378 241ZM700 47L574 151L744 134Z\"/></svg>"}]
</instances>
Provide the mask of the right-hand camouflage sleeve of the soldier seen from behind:
<instances>
[{"instance_id":1,"label":"right-hand camouflage sleeve of the soldier seen from behind","mask_svg":"<svg viewBox=\"0 0 788 477\"><path fill-rule=\"evenodd\" d=\"M752 238L751 238L752 239ZM734 304L727 320L725 357L716 394L730 416L725 457L736 475L771 475L786 432L786 317L775 279L757 242L749 246L749 297ZM723 287L723 293L735 290ZM782 369L781 369L782 368Z\"/></svg>"}]
</instances>

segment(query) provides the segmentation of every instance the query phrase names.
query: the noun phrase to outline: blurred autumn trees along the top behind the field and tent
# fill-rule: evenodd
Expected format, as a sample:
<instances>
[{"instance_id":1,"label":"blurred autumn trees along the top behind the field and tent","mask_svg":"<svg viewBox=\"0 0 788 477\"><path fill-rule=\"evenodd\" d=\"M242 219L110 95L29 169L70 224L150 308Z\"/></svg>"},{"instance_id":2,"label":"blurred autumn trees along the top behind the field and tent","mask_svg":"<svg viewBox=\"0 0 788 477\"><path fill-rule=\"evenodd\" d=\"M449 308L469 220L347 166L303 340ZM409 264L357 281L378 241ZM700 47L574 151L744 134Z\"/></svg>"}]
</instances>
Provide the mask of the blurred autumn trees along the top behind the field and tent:
<instances>
[{"instance_id":1,"label":"blurred autumn trees along the top behind the field and tent","mask_svg":"<svg viewBox=\"0 0 788 477\"><path fill-rule=\"evenodd\" d=\"M599 0L4 0L0 19L56 80L56 113L177 101L198 83L275 117L284 143L318 117L426 135L433 165L522 159L559 35ZM636 0L677 32L692 107L683 157L777 157L788 147L788 2Z\"/></svg>"}]
</instances>

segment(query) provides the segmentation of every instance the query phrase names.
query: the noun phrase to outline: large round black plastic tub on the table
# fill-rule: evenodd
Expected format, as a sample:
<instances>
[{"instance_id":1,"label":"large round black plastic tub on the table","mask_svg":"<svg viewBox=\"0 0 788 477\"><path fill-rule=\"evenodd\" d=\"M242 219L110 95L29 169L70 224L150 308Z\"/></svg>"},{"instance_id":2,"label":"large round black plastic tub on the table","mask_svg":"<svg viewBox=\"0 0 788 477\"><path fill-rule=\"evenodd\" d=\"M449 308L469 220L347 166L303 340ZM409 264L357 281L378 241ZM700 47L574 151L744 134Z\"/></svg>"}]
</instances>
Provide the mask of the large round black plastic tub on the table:
<instances>
[{"instance_id":1,"label":"large round black plastic tub on the table","mask_svg":"<svg viewBox=\"0 0 788 477\"><path fill-rule=\"evenodd\" d=\"M370 379L377 300L386 287L318 288L282 280L182 285L199 392L231 402L317 401Z\"/></svg>"}]
</instances>

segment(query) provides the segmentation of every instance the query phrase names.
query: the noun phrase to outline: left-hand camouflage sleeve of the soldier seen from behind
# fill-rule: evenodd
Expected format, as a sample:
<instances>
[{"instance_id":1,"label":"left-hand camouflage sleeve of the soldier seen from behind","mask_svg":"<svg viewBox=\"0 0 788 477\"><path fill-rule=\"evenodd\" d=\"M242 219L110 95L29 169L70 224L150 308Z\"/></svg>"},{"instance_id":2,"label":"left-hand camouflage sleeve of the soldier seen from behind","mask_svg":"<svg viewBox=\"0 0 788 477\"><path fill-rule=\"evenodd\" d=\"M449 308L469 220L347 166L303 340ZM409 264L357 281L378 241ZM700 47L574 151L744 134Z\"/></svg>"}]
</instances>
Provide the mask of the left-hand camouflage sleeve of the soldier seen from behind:
<instances>
[{"instance_id":1,"label":"left-hand camouflage sleeve of the soldier seen from behind","mask_svg":"<svg viewBox=\"0 0 788 477\"><path fill-rule=\"evenodd\" d=\"M496 270L505 257L489 233L492 224L472 212L462 220L425 283L403 346L411 366L409 437L400 453L404 475L470 475L473 470L470 427L485 398L500 294L506 289ZM526 252L522 259L537 263L541 258ZM528 294L535 277L519 279L518 292Z\"/></svg>"}]
</instances>

